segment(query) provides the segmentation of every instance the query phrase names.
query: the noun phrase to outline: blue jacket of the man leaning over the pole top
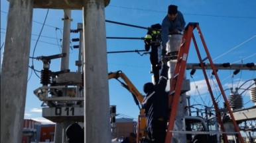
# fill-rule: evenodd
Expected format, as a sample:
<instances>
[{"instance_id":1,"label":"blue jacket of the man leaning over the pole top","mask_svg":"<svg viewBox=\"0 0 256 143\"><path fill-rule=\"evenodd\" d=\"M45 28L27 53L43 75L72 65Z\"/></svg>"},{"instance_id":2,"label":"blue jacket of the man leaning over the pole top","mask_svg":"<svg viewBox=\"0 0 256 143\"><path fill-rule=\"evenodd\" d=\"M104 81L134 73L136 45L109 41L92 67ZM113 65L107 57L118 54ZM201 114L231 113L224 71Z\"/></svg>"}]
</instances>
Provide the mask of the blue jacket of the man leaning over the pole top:
<instances>
[{"instance_id":1,"label":"blue jacket of the man leaning over the pole top","mask_svg":"<svg viewBox=\"0 0 256 143\"><path fill-rule=\"evenodd\" d=\"M161 39L162 39L162 47L166 47L166 43L168 42L168 34L173 30L179 30L180 32L184 31L185 28L185 20L183 14L178 11L178 15L174 21L170 20L166 15L162 20L162 30L161 30Z\"/></svg>"}]
</instances>

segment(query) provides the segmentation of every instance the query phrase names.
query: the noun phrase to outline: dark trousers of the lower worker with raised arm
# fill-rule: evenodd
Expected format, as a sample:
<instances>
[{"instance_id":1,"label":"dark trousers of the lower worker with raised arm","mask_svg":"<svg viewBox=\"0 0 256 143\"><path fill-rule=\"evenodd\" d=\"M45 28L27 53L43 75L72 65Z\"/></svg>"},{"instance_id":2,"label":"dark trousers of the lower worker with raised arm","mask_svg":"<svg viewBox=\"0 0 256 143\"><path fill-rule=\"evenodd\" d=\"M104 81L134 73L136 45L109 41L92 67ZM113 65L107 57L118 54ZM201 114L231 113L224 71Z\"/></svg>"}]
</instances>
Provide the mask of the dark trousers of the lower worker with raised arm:
<instances>
[{"instance_id":1,"label":"dark trousers of the lower worker with raised arm","mask_svg":"<svg viewBox=\"0 0 256 143\"><path fill-rule=\"evenodd\" d=\"M148 136L152 143L164 143L166 135L166 121L153 121L148 128Z\"/></svg>"}]
</instances>

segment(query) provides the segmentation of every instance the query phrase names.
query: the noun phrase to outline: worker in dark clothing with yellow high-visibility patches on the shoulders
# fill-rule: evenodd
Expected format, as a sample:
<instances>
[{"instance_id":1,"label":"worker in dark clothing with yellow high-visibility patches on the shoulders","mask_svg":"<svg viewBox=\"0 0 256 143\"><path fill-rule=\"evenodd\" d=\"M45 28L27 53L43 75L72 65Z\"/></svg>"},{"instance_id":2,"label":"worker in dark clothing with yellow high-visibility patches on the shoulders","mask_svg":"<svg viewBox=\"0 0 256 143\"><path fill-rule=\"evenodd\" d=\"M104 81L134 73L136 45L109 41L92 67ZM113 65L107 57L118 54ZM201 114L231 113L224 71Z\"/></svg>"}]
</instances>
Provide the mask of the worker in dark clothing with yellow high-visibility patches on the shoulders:
<instances>
[{"instance_id":1,"label":"worker in dark clothing with yellow high-visibility patches on the shoulders","mask_svg":"<svg viewBox=\"0 0 256 143\"><path fill-rule=\"evenodd\" d=\"M153 24L149 28L147 35L145 36L145 50L150 52L151 69L153 72L154 80L153 83L157 84L159 82L159 70L160 70L160 60L161 60L161 47L160 47L160 24Z\"/></svg>"}]
</instances>

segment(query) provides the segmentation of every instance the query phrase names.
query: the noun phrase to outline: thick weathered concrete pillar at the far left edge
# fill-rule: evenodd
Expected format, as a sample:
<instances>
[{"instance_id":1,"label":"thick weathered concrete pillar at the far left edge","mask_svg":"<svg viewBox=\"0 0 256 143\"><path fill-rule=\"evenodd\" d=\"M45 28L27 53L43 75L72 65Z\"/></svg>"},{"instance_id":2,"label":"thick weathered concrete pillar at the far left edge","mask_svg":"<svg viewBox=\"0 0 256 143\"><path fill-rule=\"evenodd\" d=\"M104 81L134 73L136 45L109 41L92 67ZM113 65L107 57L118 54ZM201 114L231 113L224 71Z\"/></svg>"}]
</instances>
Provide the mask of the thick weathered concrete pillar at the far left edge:
<instances>
[{"instance_id":1,"label":"thick weathered concrete pillar at the far left edge","mask_svg":"<svg viewBox=\"0 0 256 143\"><path fill-rule=\"evenodd\" d=\"M33 3L33 0L9 0L1 71L1 142L22 140Z\"/></svg>"}]
</instances>

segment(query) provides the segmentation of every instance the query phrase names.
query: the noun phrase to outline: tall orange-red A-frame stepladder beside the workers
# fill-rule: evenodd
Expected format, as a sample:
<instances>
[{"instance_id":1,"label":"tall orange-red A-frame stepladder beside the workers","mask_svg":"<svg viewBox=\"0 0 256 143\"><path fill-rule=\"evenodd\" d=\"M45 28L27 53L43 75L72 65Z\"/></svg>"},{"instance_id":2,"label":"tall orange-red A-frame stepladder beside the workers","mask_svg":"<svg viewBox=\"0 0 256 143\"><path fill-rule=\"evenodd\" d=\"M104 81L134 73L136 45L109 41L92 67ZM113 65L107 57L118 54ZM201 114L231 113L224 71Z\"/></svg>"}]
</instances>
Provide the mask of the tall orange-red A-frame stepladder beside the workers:
<instances>
[{"instance_id":1,"label":"tall orange-red A-frame stepladder beside the workers","mask_svg":"<svg viewBox=\"0 0 256 143\"><path fill-rule=\"evenodd\" d=\"M197 28L198 30L198 34L200 36L200 39L202 41L202 45L204 46L205 52L207 57L202 59L201 55L200 55L200 51L198 49L198 45L196 43L196 38L193 34L193 30ZM237 132L237 136L238 139L240 141L240 143L243 143L243 138L241 136L241 133L239 132L239 128L237 126L237 123L235 122L233 113L231 111L230 105L227 101L227 98L225 96L225 92L224 89L222 88L222 84L220 82L220 79L218 77L217 71L216 71L216 67L214 67L214 63L212 62L212 58L210 57L210 53L208 51L208 48L206 47L206 43L204 42L204 38L202 36L202 32L200 30L199 24L195 23L195 22L190 22L188 24L188 26L186 26L186 29L184 31L184 34L182 36L182 41L180 43L180 51L178 51L178 59L176 62L176 66L174 69L174 78L170 81L170 93L169 93L169 101L168 101L168 107L170 109L170 116L168 119L168 129L166 132L166 138L165 138L165 143L170 143L172 140L172 133L173 133L173 129L174 129L174 122L175 122L175 118L176 118L176 112L178 110L178 100L180 95L182 94L182 82L183 82L183 78L184 78L184 74L185 74L185 70L186 70L186 61L188 59L188 51L190 48L190 42L191 40L193 40L194 42L194 46L196 48L196 53L198 55L198 59L200 61L200 66L202 67L202 71L204 73L204 77L206 79L206 84L208 86L208 90L210 92L210 96L212 98L213 104L214 104L214 108L216 110L216 116L218 119L218 123L220 124L220 128L222 130L222 138L224 140L225 143L228 142L227 140L227 134L225 133L225 129L224 129L224 123L222 122L222 118L218 109L218 105L216 103L216 100L214 99L214 94L212 92L212 88L210 86L210 82L208 80L208 76L206 74L206 69L204 68L204 61L206 61L208 59L208 61L210 62L210 66L212 67L212 70L214 72L214 75L216 76L216 80L218 82L218 86L220 88L220 91L222 93L222 96L224 98L225 101L225 105L227 107L227 110L229 112L229 115L231 117L231 121L233 123L233 126L235 127L235 131Z\"/></svg>"}]
</instances>

